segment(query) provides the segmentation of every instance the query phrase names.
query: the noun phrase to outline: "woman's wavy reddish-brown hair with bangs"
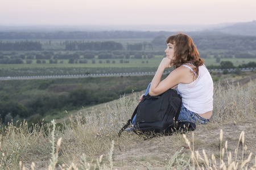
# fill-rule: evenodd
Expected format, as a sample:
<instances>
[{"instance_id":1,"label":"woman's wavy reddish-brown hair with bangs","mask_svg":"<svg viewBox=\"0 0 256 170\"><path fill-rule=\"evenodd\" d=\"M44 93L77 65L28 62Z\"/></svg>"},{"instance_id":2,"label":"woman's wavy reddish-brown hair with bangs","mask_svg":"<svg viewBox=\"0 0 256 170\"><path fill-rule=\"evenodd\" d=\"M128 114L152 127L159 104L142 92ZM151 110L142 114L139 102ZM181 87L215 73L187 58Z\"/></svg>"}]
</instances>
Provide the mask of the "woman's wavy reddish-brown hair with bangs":
<instances>
[{"instance_id":1,"label":"woman's wavy reddish-brown hair with bangs","mask_svg":"<svg viewBox=\"0 0 256 170\"><path fill-rule=\"evenodd\" d=\"M204 59L199 58L199 52L193 40L184 33L177 33L176 35L168 37L167 44L174 44L174 58L171 63L176 69L185 63L191 63L195 67L192 69L196 75L199 75L199 66L204 64ZM196 76L194 74L194 78Z\"/></svg>"}]
</instances>

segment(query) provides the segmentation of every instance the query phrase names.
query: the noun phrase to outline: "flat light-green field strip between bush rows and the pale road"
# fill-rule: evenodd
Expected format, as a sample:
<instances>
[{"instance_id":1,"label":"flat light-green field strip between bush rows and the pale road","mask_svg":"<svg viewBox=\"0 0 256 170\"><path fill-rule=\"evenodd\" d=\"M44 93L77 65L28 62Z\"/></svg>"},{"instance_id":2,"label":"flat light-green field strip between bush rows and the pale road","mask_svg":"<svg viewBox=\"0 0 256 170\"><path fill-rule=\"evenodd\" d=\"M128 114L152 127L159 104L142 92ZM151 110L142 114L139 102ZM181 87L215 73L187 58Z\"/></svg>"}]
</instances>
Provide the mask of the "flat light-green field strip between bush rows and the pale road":
<instances>
[{"instance_id":1,"label":"flat light-green field strip between bush rows and the pale road","mask_svg":"<svg viewBox=\"0 0 256 170\"><path fill-rule=\"evenodd\" d=\"M139 73L156 71L163 56L155 56L151 59L123 59L129 63L120 63L121 59L109 59L110 63L106 63L107 59L94 59L96 63L92 63L92 59L88 59L89 63L68 63L68 59L63 59L63 63L36 63L33 60L31 64L1 64L0 76L47 76L47 75L80 75L80 74L114 74L114 73ZM99 62L102 63L99 63ZM115 63L112 63L115 61ZM256 62L251 58L221 58L221 61L231 61L235 67L249 62ZM24 61L26 62L26 61ZM143 63L142 63L143 62ZM220 66L215 58L206 58L205 65L208 69L213 66ZM172 69L166 69L170 71Z\"/></svg>"}]
</instances>

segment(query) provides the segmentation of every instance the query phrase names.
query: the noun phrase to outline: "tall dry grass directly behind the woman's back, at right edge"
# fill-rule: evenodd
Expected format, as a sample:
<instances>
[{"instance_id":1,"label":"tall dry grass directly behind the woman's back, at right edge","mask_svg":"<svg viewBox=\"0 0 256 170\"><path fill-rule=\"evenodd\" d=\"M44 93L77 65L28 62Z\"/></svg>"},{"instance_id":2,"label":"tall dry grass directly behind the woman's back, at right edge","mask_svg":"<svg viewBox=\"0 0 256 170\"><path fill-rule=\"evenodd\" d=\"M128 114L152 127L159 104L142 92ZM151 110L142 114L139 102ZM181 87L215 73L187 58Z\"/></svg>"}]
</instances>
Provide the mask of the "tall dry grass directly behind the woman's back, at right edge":
<instances>
[{"instance_id":1,"label":"tall dry grass directly behind the woman's back, at right edge","mask_svg":"<svg viewBox=\"0 0 256 170\"><path fill-rule=\"evenodd\" d=\"M237 122L247 116L255 115L255 81L245 86L227 84L214 87L214 114L213 121L216 122Z\"/></svg>"}]
</instances>

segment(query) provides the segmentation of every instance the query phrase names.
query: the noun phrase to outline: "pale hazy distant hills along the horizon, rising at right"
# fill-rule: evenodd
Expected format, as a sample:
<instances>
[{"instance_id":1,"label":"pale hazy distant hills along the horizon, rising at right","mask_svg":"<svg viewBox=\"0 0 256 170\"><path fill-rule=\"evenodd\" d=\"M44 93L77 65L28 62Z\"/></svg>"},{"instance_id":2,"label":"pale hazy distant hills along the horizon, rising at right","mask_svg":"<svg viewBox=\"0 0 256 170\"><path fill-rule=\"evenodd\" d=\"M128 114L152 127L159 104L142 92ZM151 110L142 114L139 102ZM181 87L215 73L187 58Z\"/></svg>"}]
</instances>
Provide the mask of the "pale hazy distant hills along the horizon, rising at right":
<instances>
[{"instance_id":1,"label":"pale hazy distant hills along the horizon, rising at right","mask_svg":"<svg viewBox=\"0 0 256 170\"><path fill-rule=\"evenodd\" d=\"M256 36L256 20L246 23L216 25L0 25L0 32L56 31L150 31L150 32L222 32L232 35Z\"/></svg>"}]
</instances>

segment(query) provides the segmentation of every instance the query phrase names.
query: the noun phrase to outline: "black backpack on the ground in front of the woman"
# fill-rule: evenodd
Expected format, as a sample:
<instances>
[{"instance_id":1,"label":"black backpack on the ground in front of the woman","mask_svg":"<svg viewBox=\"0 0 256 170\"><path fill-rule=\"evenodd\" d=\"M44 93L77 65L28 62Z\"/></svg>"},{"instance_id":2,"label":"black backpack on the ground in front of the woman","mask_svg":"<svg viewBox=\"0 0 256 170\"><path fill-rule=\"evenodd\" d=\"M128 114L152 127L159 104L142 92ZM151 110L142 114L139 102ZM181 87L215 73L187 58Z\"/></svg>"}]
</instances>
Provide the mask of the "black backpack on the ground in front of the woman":
<instances>
[{"instance_id":1,"label":"black backpack on the ground in front of the woman","mask_svg":"<svg viewBox=\"0 0 256 170\"><path fill-rule=\"evenodd\" d=\"M143 96L142 101L138 104L131 119L119 131L129 126L133 127L133 131L137 134L144 134L152 137L156 134L172 135L175 132L184 132L187 130L195 130L196 125L193 122L177 122L179 117L182 100L181 96L175 90L169 89L159 96ZM133 121L134 116L135 124Z\"/></svg>"}]
</instances>

